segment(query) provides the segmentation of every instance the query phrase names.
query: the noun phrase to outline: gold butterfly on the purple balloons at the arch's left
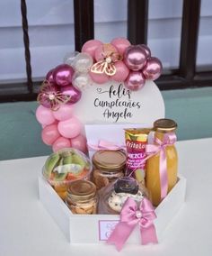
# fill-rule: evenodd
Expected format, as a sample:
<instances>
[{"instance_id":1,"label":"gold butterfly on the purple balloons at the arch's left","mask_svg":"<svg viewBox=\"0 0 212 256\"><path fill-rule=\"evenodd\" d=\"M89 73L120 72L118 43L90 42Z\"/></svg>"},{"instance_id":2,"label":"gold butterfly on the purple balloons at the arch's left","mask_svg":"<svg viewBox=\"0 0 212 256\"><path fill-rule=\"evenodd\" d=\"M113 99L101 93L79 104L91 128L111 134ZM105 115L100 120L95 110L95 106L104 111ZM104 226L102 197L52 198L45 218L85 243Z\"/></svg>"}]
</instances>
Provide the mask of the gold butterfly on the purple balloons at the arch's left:
<instances>
[{"instance_id":1,"label":"gold butterfly on the purple balloons at the arch's left","mask_svg":"<svg viewBox=\"0 0 212 256\"><path fill-rule=\"evenodd\" d=\"M56 111L60 105L66 104L70 98L71 96L59 92L55 86L45 80L40 87L37 100L41 105Z\"/></svg>"}]
</instances>

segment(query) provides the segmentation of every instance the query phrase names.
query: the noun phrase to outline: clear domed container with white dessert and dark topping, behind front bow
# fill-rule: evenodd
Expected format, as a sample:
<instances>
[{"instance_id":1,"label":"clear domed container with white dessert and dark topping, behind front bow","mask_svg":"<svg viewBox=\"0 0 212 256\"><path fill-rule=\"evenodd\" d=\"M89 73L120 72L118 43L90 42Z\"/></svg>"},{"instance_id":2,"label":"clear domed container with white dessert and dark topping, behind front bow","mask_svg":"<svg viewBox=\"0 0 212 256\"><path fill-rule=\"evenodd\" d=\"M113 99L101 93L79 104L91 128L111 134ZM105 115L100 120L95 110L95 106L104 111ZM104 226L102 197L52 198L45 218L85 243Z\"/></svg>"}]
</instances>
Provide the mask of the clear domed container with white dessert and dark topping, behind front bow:
<instances>
[{"instance_id":1,"label":"clear domed container with white dessert and dark topping, behind front bow","mask_svg":"<svg viewBox=\"0 0 212 256\"><path fill-rule=\"evenodd\" d=\"M133 198L137 203L144 197L148 198L146 187L137 183L135 178L122 177L99 192L100 202L98 213L102 215L119 215L122 206L128 199Z\"/></svg>"}]
</instances>

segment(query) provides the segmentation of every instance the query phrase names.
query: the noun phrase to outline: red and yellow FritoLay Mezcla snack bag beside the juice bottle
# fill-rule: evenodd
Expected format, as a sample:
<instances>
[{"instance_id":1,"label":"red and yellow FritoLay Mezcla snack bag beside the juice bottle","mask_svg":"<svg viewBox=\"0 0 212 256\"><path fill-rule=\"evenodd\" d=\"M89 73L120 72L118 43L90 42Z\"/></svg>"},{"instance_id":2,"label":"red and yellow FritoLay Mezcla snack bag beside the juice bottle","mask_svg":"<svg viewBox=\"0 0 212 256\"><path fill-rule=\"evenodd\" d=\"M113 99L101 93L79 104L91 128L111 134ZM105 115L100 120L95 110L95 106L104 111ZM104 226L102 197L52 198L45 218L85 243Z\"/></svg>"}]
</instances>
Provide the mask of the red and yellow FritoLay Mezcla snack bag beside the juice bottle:
<instances>
[{"instance_id":1,"label":"red and yellow FritoLay Mezcla snack bag beside the juice bottle","mask_svg":"<svg viewBox=\"0 0 212 256\"><path fill-rule=\"evenodd\" d=\"M126 129L125 141L127 149L126 176L136 178L145 185L146 176L146 143L151 129Z\"/></svg>"}]
</instances>

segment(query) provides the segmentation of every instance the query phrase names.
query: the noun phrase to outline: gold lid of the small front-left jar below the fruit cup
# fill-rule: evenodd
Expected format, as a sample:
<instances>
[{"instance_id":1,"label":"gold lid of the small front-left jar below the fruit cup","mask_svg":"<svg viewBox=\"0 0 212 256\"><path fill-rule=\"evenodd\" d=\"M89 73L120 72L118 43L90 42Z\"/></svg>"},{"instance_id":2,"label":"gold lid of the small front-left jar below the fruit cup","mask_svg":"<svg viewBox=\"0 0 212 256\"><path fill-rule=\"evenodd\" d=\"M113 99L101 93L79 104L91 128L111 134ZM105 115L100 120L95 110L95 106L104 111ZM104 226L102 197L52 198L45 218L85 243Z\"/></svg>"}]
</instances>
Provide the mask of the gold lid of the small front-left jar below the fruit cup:
<instances>
[{"instance_id":1,"label":"gold lid of the small front-left jar below the fruit cup","mask_svg":"<svg viewBox=\"0 0 212 256\"><path fill-rule=\"evenodd\" d=\"M86 201L95 197L96 186L88 180L75 180L67 188L67 199Z\"/></svg>"}]
</instances>

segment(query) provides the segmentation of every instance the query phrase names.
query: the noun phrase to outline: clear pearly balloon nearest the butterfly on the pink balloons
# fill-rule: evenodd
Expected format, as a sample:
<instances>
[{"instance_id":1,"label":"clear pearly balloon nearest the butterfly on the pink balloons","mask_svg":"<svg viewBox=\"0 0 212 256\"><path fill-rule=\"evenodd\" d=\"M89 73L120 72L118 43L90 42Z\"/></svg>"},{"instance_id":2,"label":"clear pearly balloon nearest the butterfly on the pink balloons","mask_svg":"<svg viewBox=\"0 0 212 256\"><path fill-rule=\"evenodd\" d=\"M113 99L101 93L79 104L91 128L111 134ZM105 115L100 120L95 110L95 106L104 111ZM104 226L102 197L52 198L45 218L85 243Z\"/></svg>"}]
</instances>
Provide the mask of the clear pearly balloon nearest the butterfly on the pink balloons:
<instances>
[{"instance_id":1,"label":"clear pearly balloon nearest the butterfly on the pink balloons","mask_svg":"<svg viewBox=\"0 0 212 256\"><path fill-rule=\"evenodd\" d=\"M87 53L79 53L74 60L74 68L77 72L87 73L93 65L93 58Z\"/></svg>"}]
</instances>

